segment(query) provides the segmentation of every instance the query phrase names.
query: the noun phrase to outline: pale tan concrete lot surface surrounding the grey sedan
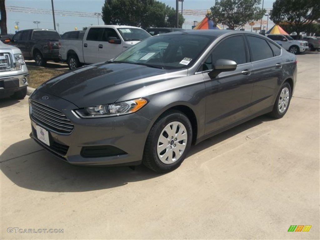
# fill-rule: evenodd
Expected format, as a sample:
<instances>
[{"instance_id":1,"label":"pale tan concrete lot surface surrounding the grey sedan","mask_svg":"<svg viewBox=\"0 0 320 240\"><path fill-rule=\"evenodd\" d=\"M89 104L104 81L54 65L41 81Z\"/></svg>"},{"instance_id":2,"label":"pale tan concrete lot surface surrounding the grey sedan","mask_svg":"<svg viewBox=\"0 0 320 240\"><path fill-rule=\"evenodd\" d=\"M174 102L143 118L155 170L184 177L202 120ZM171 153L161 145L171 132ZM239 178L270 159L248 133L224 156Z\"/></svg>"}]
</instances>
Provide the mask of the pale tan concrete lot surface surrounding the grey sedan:
<instances>
[{"instance_id":1,"label":"pale tan concrete lot surface surrounding the grey sedan","mask_svg":"<svg viewBox=\"0 0 320 240\"><path fill-rule=\"evenodd\" d=\"M29 138L27 98L1 101L0 238L319 239L319 56L298 55L282 119L205 140L164 175L66 164Z\"/></svg>"}]
</instances>

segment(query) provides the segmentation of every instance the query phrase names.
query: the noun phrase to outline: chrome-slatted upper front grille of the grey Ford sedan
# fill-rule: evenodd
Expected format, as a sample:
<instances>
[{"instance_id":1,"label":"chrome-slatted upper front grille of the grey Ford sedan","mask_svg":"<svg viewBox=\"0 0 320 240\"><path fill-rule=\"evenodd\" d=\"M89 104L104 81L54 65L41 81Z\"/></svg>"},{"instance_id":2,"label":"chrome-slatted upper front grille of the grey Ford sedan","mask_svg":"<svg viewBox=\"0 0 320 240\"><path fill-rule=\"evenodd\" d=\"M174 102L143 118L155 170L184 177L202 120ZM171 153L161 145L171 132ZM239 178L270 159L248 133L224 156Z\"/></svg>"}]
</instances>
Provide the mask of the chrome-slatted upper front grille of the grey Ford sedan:
<instances>
[{"instance_id":1,"label":"chrome-slatted upper front grille of the grey Ford sedan","mask_svg":"<svg viewBox=\"0 0 320 240\"><path fill-rule=\"evenodd\" d=\"M74 128L74 125L66 115L36 101L31 101L31 117L36 123L47 127L53 132L68 134Z\"/></svg>"}]
</instances>

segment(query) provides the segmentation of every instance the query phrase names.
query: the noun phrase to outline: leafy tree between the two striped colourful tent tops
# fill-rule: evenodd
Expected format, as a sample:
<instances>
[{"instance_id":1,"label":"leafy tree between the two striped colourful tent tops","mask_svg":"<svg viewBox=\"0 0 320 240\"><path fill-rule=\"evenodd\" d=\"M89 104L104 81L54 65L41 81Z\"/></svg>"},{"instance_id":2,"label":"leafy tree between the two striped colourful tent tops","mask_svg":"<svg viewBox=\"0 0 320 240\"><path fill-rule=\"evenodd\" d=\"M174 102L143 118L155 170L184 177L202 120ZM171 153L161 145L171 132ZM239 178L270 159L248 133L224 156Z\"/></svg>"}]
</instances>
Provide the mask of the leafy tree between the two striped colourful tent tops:
<instances>
[{"instance_id":1,"label":"leafy tree between the two striped colourful tent tops","mask_svg":"<svg viewBox=\"0 0 320 240\"><path fill-rule=\"evenodd\" d=\"M266 13L259 4L261 0L221 0L211 7L208 16L215 23L227 25L230 29L239 29L250 20L260 20Z\"/></svg>"}]
</instances>

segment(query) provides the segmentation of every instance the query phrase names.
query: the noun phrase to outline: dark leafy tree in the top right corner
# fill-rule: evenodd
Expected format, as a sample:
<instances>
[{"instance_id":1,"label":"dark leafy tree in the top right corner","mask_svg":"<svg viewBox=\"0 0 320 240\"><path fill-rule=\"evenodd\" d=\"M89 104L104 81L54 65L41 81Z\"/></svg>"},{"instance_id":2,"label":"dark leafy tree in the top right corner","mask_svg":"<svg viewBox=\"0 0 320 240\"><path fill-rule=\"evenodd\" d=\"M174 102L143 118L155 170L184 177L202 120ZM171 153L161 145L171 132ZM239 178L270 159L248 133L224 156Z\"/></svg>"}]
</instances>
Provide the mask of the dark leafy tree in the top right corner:
<instances>
[{"instance_id":1,"label":"dark leafy tree in the top right corner","mask_svg":"<svg viewBox=\"0 0 320 240\"><path fill-rule=\"evenodd\" d=\"M308 32L313 22L320 22L319 0L276 0L270 12L270 19L276 24L289 24L300 35Z\"/></svg>"}]
</instances>

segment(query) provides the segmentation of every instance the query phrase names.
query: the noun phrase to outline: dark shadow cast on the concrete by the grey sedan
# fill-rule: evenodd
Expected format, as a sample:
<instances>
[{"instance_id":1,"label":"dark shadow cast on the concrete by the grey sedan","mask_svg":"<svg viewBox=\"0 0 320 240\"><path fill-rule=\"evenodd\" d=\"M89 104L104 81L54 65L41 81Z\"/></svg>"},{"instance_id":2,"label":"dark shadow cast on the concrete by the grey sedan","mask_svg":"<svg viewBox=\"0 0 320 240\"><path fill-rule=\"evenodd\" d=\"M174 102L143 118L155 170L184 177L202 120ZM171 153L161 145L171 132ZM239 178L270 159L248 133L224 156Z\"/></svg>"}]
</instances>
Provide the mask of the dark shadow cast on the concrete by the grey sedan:
<instances>
[{"instance_id":1,"label":"dark shadow cast on the concrete by the grey sedan","mask_svg":"<svg viewBox=\"0 0 320 240\"><path fill-rule=\"evenodd\" d=\"M192 146L188 157L269 120L266 116L260 116L220 133ZM74 166L52 156L42 148L35 148L34 145L37 144L32 139L22 140L4 150L0 158L1 171L13 184L22 188L47 192L84 192L120 187L130 182L161 176L144 165L136 166L135 169ZM25 149L30 150L26 153ZM179 168L175 171L179 171Z\"/></svg>"}]
</instances>

